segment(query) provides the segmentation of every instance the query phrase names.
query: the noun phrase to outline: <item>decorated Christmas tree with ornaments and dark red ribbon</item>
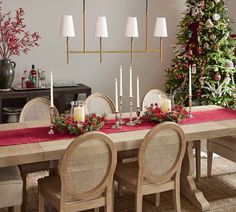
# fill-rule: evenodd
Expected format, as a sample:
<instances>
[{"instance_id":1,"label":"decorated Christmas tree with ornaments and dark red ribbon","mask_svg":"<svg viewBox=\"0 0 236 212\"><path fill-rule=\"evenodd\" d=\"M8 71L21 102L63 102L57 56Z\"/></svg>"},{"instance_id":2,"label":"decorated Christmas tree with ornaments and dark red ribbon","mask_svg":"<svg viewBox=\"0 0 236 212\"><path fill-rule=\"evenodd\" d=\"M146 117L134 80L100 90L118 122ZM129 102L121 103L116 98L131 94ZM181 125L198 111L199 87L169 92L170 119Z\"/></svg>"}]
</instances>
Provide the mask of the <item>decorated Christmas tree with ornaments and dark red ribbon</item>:
<instances>
[{"instance_id":1,"label":"decorated Christmas tree with ornaments and dark red ribbon","mask_svg":"<svg viewBox=\"0 0 236 212\"><path fill-rule=\"evenodd\" d=\"M177 104L188 105L191 68L194 105L236 108L235 40L223 0L186 0L173 65L167 69L166 91Z\"/></svg>"}]
</instances>

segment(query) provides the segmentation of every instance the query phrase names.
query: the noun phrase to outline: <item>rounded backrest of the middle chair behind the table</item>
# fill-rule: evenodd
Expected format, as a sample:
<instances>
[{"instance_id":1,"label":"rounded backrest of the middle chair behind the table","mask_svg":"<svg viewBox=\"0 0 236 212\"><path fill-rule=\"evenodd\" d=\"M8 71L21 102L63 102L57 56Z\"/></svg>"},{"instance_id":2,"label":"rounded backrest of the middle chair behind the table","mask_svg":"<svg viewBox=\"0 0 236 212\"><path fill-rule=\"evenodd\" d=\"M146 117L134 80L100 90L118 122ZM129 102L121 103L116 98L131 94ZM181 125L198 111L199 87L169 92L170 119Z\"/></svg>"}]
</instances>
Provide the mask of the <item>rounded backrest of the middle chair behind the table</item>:
<instances>
[{"instance_id":1,"label":"rounded backrest of the middle chair behind the table","mask_svg":"<svg viewBox=\"0 0 236 212\"><path fill-rule=\"evenodd\" d=\"M115 112L115 105L112 99L104 93L93 93L86 100L86 113L112 114Z\"/></svg>"}]
</instances>

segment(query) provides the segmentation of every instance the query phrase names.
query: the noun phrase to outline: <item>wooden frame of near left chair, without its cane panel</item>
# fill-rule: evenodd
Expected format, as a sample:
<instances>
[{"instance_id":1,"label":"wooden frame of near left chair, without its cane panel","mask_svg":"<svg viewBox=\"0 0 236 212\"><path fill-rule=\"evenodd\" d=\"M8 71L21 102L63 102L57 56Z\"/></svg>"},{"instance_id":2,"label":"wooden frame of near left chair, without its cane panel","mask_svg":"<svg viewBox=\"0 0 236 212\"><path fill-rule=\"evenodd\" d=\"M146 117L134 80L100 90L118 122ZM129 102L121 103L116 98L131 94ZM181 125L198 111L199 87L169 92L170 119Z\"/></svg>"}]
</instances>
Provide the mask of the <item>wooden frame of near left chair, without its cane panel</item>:
<instances>
[{"instance_id":1,"label":"wooden frame of near left chair, without its cane panel","mask_svg":"<svg viewBox=\"0 0 236 212\"><path fill-rule=\"evenodd\" d=\"M110 165L107 168L105 177L96 188L86 192L79 192L75 191L68 181L67 161L75 149L80 148L81 144L84 142L90 142L90 139L97 139L107 145L110 150ZM116 146L110 137L101 132L85 133L84 135L77 137L69 145L61 161L60 181L59 185L57 185L61 187L60 196L55 199L55 196L50 195L53 193L53 190L45 188L46 186L42 186L46 178L39 180L39 212L44 211L45 201L49 202L56 209L63 212L83 211L92 208L94 208L95 211L99 211L98 208L102 206L105 206L105 211L112 212L114 207L113 175L115 172L116 163ZM50 177L47 178L49 179ZM68 199L68 197L70 197L70 199Z\"/></svg>"}]
</instances>

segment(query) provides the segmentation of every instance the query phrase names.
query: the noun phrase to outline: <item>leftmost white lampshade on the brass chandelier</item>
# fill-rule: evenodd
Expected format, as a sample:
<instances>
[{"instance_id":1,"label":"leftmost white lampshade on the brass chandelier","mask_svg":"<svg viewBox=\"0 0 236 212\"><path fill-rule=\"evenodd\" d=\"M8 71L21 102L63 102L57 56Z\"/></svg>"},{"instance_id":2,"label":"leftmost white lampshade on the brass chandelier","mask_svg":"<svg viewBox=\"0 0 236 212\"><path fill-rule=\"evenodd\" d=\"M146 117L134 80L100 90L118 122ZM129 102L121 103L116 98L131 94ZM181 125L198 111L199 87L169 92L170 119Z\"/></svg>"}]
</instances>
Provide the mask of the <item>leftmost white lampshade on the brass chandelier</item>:
<instances>
[{"instance_id":1,"label":"leftmost white lampshade on the brass chandelier","mask_svg":"<svg viewBox=\"0 0 236 212\"><path fill-rule=\"evenodd\" d=\"M75 37L74 23L72 15L64 15L61 17L60 36Z\"/></svg>"}]
</instances>

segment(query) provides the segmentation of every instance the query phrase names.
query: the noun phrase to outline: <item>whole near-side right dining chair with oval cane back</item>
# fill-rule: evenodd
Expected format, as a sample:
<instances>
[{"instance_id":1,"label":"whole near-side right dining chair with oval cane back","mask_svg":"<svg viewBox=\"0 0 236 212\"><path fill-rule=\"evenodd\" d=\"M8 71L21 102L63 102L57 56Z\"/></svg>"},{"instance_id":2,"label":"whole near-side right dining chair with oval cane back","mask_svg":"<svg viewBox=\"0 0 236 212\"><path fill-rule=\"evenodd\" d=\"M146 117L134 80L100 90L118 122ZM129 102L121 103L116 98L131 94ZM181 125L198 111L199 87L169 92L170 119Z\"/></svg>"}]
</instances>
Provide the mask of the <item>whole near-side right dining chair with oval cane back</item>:
<instances>
[{"instance_id":1,"label":"whole near-side right dining chair with oval cane back","mask_svg":"<svg viewBox=\"0 0 236 212\"><path fill-rule=\"evenodd\" d=\"M143 196L173 190L174 207L180 206L180 171L186 148L180 126L165 122L145 136L139 149L138 161L117 165L114 179L136 194L136 212L142 212Z\"/></svg>"}]
</instances>

